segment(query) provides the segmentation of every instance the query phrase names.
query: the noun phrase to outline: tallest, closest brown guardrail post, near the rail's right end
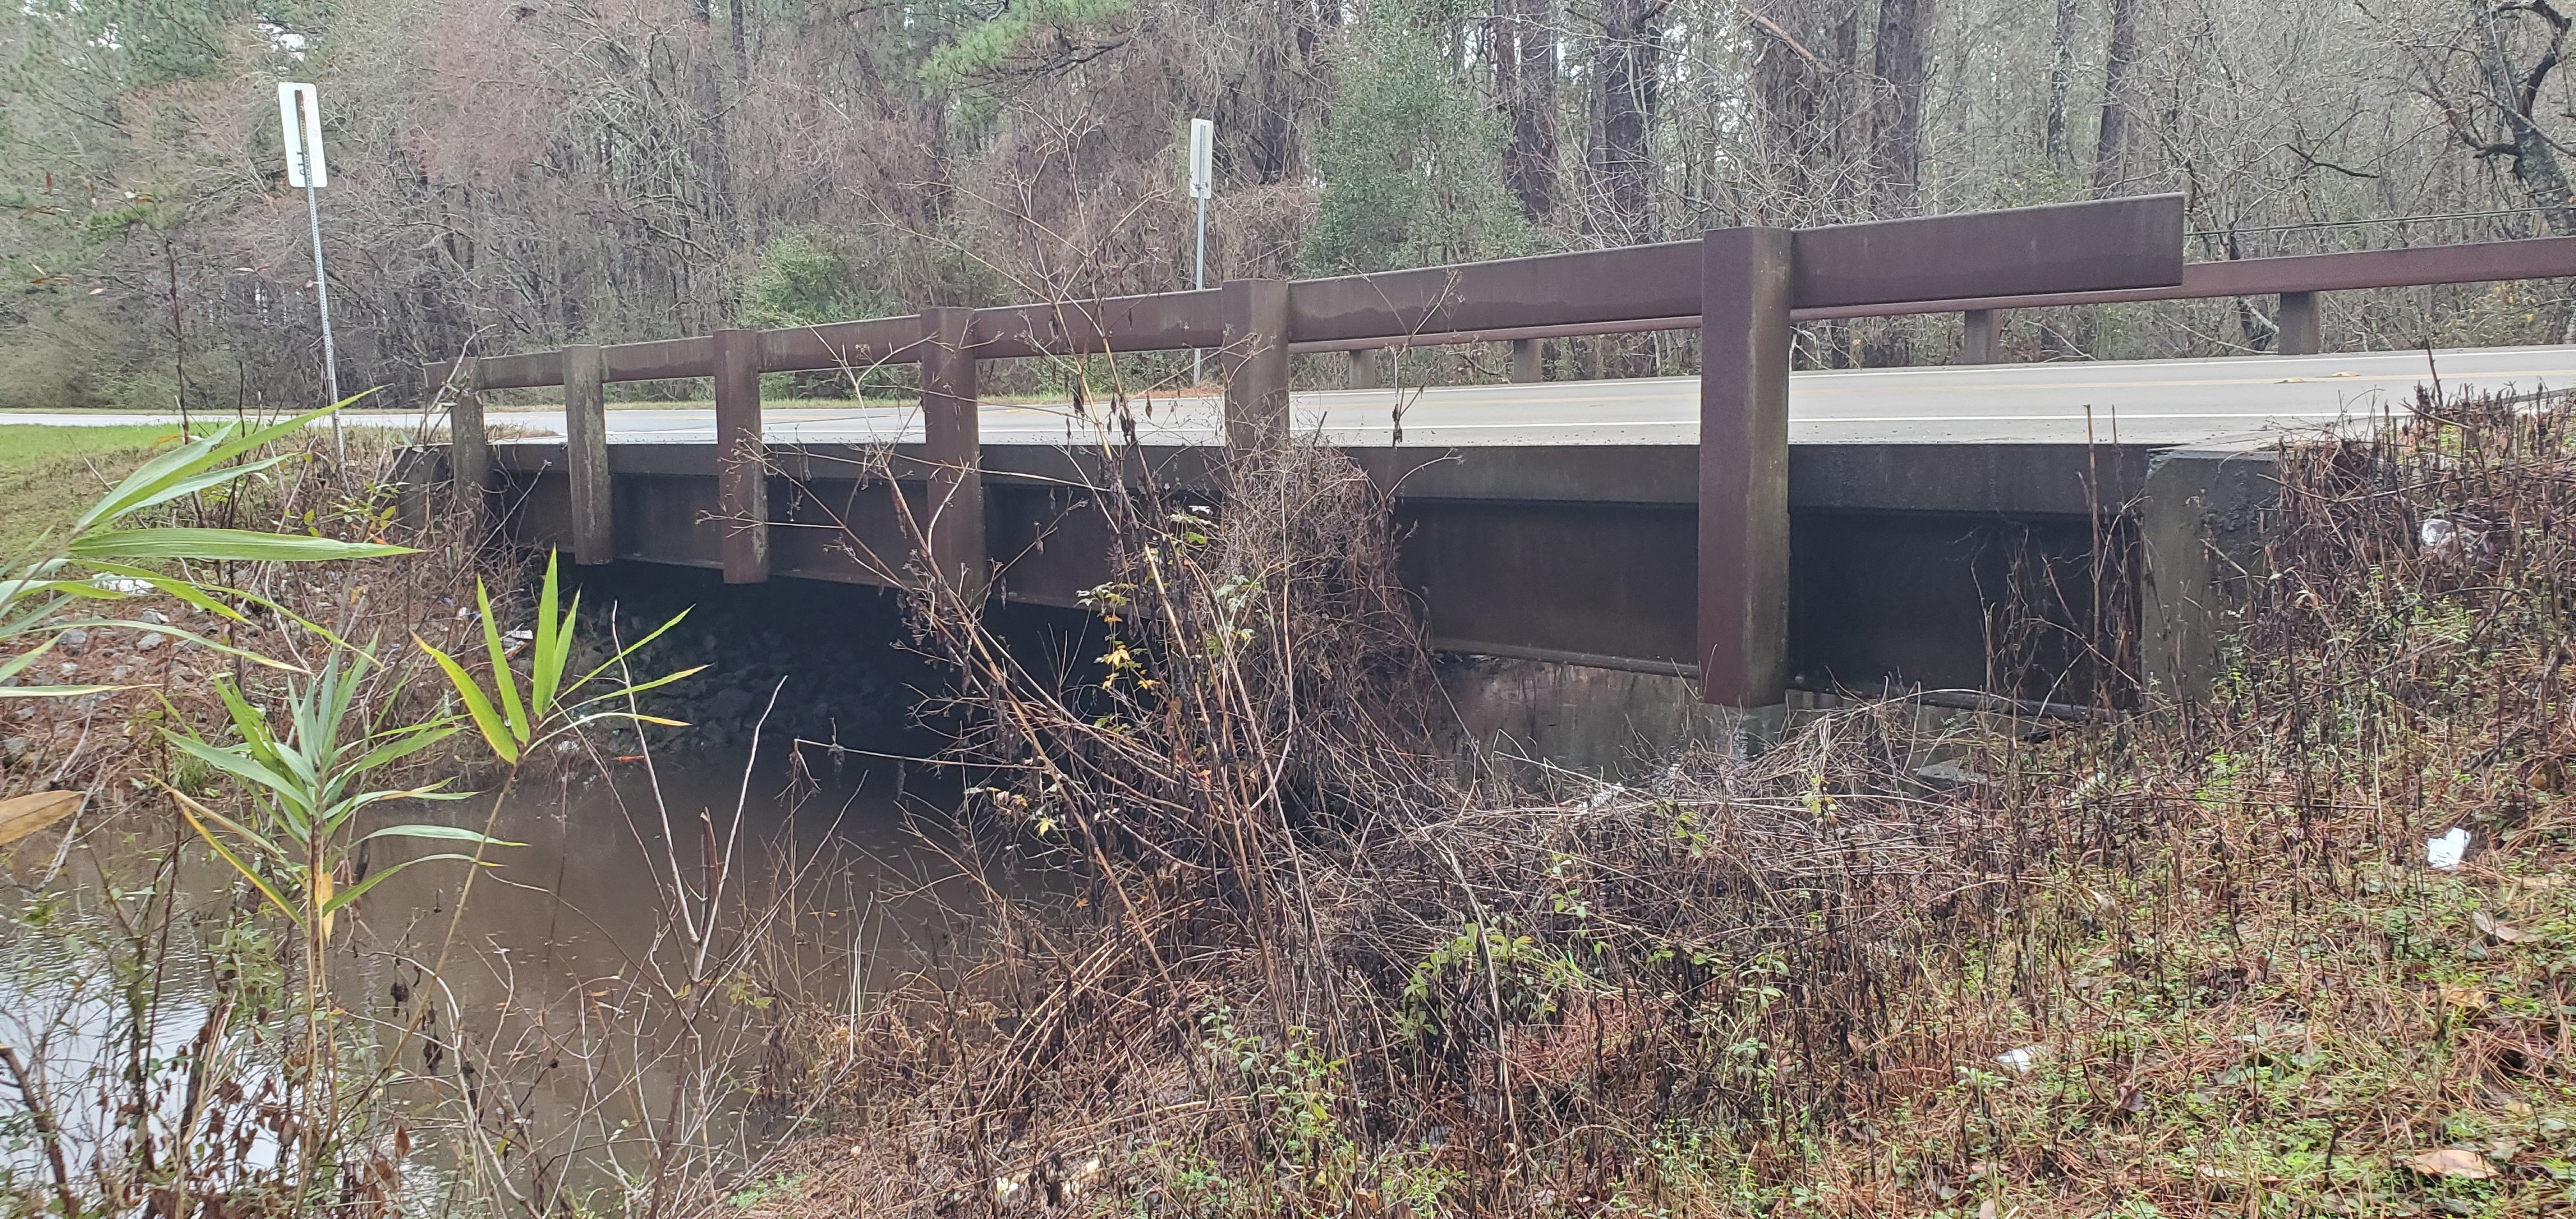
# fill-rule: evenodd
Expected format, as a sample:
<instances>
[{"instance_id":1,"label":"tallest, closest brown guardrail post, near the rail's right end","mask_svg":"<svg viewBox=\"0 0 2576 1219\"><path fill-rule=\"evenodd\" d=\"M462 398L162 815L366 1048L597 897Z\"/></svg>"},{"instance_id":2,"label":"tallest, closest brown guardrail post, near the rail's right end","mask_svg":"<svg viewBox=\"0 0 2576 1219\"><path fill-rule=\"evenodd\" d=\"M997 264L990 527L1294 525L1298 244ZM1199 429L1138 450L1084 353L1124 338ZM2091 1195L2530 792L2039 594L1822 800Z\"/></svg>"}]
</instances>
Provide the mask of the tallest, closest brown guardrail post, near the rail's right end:
<instances>
[{"instance_id":1,"label":"tallest, closest brown guardrail post, near the rail's right end","mask_svg":"<svg viewBox=\"0 0 2576 1219\"><path fill-rule=\"evenodd\" d=\"M1700 240L1700 701L1788 691L1790 229Z\"/></svg>"}]
</instances>

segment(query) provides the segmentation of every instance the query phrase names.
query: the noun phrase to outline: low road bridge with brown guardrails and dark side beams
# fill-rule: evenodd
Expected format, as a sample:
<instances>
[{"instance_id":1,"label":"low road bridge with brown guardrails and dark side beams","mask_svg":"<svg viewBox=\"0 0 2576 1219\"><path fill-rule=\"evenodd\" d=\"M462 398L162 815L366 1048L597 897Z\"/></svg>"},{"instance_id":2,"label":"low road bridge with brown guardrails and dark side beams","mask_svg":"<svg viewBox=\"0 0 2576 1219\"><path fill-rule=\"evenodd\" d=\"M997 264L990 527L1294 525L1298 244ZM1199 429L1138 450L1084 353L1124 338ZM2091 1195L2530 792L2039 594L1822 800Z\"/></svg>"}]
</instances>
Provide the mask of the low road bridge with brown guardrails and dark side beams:
<instances>
[{"instance_id":1,"label":"low road bridge with brown guardrails and dark side beams","mask_svg":"<svg viewBox=\"0 0 2576 1219\"><path fill-rule=\"evenodd\" d=\"M492 495L513 539L577 562L886 588L933 572L1072 606L1105 580L1084 487L1151 469L1213 495L1221 454L1309 438L1394 490L1440 649L1685 678L1726 706L1886 683L2027 706L2084 701L2110 670L2208 678L2264 438L2401 415L2429 374L2532 389L2576 371L2568 348L2313 353L2318 291L2543 276L2576 276L2576 240L2184 265L2179 196L2148 196L574 345L428 379L453 479ZM2280 296L2285 356L1978 363L2002 309L2251 294ZM1906 312L1965 314L1963 363L1790 374L1790 322ZM1546 338L1643 330L1695 330L1703 376L1535 376ZM1445 343L1512 343L1517 384L1288 392L1293 353ZM1139 397L1113 423L976 394L981 361L1185 348L1216 350L1221 397ZM765 371L881 363L920 363L917 407L760 407ZM683 376L714 379L711 412L605 412L608 381ZM562 412L487 441L484 392L554 384ZM1999 665L2014 600L2063 629ZM2076 621L2105 606L2133 631ZM2125 642L2089 644L2105 634Z\"/></svg>"}]
</instances>

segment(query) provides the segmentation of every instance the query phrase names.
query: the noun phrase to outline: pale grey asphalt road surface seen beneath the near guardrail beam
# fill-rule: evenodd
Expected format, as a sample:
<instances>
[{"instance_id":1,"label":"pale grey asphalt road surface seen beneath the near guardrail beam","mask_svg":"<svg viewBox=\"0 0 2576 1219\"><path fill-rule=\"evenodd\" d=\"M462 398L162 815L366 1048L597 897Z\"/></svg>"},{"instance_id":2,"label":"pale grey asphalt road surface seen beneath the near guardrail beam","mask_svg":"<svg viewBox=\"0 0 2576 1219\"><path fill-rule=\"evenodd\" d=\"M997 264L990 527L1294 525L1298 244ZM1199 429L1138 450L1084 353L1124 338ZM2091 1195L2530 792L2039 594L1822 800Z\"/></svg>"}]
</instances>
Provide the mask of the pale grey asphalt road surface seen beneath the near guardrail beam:
<instances>
[{"instance_id":1,"label":"pale grey asphalt road surface seen beneath the near guardrail beam","mask_svg":"<svg viewBox=\"0 0 2576 1219\"><path fill-rule=\"evenodd\" d=\"M2576 387L2576 348L2236 356L2133 363L1991 363L1790 376L1790 443L2228 443L2403 415L2439 371L2460 389ZM1352 446L1698 443L1695 376L1296 394L1301 430ZM1399 415L1401 407L1401 415ZM1136 405L1144 441L1208 443L1218 405ZM0 423L170 423L175 415L0 415ZM1064 405L984 407L984 443L1090 443ZM562 436L562 410L495 410L520 438ZM611 443L714 443L711 410L611 410ZM768 412L773 443L920 441L912 407Z\"/></svg>"}]
</instances>

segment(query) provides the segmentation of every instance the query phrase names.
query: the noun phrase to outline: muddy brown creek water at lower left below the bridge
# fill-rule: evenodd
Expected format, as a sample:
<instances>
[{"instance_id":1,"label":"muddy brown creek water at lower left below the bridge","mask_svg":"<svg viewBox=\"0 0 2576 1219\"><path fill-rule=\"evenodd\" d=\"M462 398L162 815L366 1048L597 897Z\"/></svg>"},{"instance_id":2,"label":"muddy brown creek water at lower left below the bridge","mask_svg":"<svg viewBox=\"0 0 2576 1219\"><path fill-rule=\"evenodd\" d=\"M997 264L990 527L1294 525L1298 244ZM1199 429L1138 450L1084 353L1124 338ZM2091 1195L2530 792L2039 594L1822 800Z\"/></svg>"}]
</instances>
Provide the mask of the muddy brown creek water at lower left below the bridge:
<instances>
[{"instance_id":1,"label":"muddy brown creek water at lower left below the bridge","mask_svg":"<svg viewBox=\"0 0 2576 1219\"><path fill-rule=\"evenodd\" d=\"M711 1149L701 1165L726 1170L811 1121L832 1080L775 1075L781 1031L822 1028L827 1044L896 987L953 984L976 951L984 894L1046 899L1056 887L1043 861L1012 848L971 861L958 799L956 778L922 765L765 745L757 760L688 753L528 781L497 814L492 794L386 809L379 827L489 825L520 843L492 848L471 889L464 863L399 871L335 938L343 1005L410 1075L399 1111L420 1129L420 1185L453 1198L477 1144L510 1144L520 1188L551 1183L616 1211L670 1113L690 1113L685 1137ZM433 850L453 843L379 838L363 871ZM237 892L219 866L191 866L180 887L201 910ZM701 956L708 889L721 899ZM121 1036L111 969L75 946L23 936L5 948L33 969L0 977L0 1039L54 1046L64 1093L111 1082ZM201 987L170 990L149 1041L178 1064L206 1008ZM698 1018L683 1023L690 995ZM492 1082L505 1088L477 1088ZM459 1121L459 1100L482 1113L484 1137ZM80 1142L103 1129L85 1126ZM520 1147L549 1165L531 1175ZM33 1155L0 1147L0 1175L36 1170Z\"/></svg>"}]
</instances>

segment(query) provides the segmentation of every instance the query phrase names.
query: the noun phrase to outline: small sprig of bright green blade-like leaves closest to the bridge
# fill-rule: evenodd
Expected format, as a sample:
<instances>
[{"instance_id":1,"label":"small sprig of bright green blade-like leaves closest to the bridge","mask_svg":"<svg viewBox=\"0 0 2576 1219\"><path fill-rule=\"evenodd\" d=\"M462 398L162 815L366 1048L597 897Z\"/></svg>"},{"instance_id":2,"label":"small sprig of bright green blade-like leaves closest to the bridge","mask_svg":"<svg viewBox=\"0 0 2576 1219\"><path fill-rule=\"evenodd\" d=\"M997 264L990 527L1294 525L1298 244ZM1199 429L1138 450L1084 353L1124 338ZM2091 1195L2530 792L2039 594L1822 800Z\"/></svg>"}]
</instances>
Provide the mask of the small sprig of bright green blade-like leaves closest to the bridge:
<instances>
[{"instance_id":1,"label":"small sprig of bright green blade-like leaves closest to the bridge","mask_svg":"<svg viewBox=\"0 0 2576 1219\"><path fill-rule=\"evenodd\" d=\"M582 691L590 691L600 680L600 675L605 675L611 667L623 665L629 657L636 655L636 649L659 639L662 631L680 626L680 619L688 619L688 611L680 611L662 626L654 626L652 634L626 644L623 649L618 649L618 655L603 660L590 673L564 680L572 667L572 624L582 613L582 595L574 593L572 606L556 613L554 572L556 572L556 557L549 554L546 585L544 590L538 590L538 603L536 603L536 631L533 639L528 642L526 696L520 693L518 675L510 673L510 649L502 644L500 624L492 619L492 595L482 588L479 580L474 582L474 606L482 611L484 652L492 660L492 688L484 688L479 680L474 680L474 673L469 673L456 657L430 647L430 642L420 639L417 634L412 637L412 642L420 644L420 649L428 652L440 670L446 670L448 686L456 688L456 701L461 701L466 714L474 719L474 729L482 732L484 745L489 745L500 760L518 765L523 758L528 758L531 750L536 750L546 740L562 737L564 732L580 729L582 724L592 724L600 719L629 719L639 724L685 727L677 719L647 716L608 704L629 704L631 696L659 686L670 686L680 678L688 678L690 673L703 670L706 665L685 667L680 673L665 673L659 678L634 686L613 683L590 696L582 696Z\"/></svg>"}]
</instances>

